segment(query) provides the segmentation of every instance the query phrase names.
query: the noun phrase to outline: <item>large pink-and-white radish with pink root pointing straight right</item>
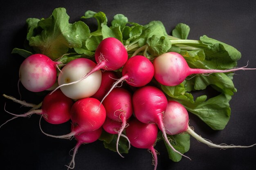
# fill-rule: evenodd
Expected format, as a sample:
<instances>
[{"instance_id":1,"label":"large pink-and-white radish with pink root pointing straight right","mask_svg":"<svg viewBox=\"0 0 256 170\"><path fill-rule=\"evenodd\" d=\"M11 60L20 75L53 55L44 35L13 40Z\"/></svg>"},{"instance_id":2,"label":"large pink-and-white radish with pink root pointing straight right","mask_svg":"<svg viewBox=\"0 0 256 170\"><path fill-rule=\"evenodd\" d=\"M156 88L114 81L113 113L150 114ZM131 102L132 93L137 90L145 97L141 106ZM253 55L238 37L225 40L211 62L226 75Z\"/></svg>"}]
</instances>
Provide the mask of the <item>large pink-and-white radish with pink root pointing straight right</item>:
<instances>
[{"instance_id":1,"label":"large pink-and-white radish with pink root pointing straight right","mask_svg":"<svg viewBox=\"0 0 256 170\"><path fill-rule=\"evenodd\" d=\"M175 52L164 53L155 58L153 62L155 68L155 79L166 86L176 86L181 84L187 76L191 74L205 73L227 73L238 70L255 70L256 68L233 68L228 70L190 68L182 55Z\"/></svg>"}]
</instances>

